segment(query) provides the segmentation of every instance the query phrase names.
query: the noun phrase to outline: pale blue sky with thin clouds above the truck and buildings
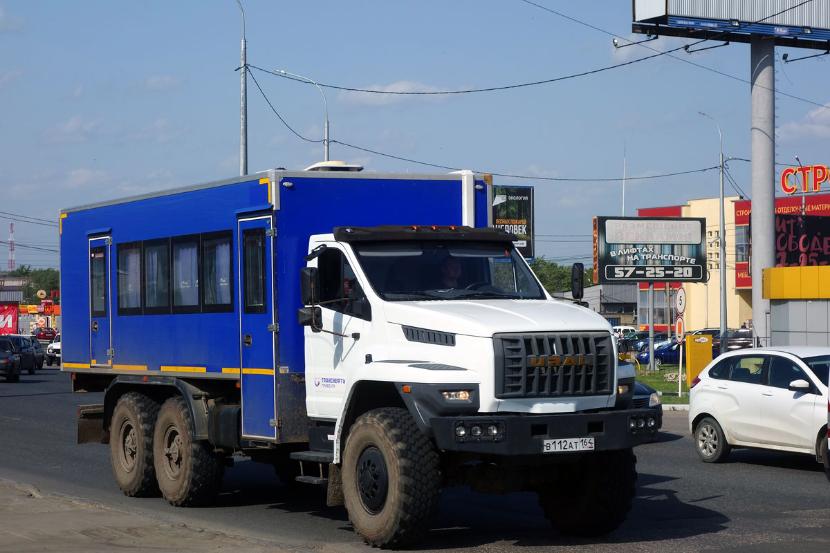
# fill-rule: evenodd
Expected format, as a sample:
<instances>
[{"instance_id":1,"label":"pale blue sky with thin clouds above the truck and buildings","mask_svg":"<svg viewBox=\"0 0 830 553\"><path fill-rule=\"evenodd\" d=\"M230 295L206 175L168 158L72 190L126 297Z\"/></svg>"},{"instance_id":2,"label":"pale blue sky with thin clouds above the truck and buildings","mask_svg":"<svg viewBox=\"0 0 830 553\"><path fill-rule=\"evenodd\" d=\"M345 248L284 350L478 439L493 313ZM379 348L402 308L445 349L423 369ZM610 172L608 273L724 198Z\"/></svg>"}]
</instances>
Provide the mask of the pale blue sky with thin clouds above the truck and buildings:
<instances>
[{"instance_id":1,"label":"pale blue sky with thin clouds above the truck and buildings","mask_svg":"<svg viewBox=\"0 0 830 553\"><path fill-rule=\"evenodd\" d=\"M248 172L323 159L323 95L286 70L322 86L331 159L532 185L536 255L589 265L592 217L623 214L623 161L635 216L719 195L699 111L750 157L749 45L637 61L693 41L616 49L645 38L629 0L240 2ZM237 176L241 39L236 0L0 0L0 269L9 221L18 266L57 268L62 208ZM830 164L830 56L784 53L821 52L776 48L777 167ZM727 167L726 196L751 197L749 163Z\"/></svg>"}]
</instances>

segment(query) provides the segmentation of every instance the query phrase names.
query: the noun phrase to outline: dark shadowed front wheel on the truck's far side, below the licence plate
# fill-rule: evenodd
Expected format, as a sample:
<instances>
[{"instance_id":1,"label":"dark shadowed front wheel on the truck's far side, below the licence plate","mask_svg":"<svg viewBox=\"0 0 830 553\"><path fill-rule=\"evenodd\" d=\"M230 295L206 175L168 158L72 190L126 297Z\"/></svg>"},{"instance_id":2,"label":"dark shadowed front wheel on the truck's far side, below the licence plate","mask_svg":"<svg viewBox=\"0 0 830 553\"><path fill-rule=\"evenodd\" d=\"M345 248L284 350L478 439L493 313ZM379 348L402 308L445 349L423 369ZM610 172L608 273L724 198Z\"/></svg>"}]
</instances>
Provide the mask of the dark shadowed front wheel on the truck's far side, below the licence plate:
<instances>
[{"instance_id":1,"label":"dark shadowed front wheel on the truck's far side, below the licence plate","mask_svg":"<svg viewBox=\"0 0 830 553\"><path fill-rule=\"evenodd\" d=\"M561 465L555 483L539 492L551 525L571 536L603 536L625 521L637 492L637 457L631 448L585 454Z\"/></svg>"}]
</instances>

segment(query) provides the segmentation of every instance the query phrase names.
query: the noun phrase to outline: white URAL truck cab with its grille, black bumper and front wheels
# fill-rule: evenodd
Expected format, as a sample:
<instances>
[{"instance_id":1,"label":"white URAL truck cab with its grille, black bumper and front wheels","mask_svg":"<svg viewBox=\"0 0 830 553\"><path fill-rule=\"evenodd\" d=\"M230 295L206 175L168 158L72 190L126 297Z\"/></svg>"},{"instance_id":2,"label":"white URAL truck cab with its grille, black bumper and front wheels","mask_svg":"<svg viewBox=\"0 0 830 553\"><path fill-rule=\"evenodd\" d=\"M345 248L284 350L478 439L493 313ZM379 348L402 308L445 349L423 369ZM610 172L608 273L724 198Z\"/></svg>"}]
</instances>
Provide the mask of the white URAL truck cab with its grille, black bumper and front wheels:
<instances>
[{"instance_id":1,"label":"white URAL truck cab with its grille, black bumper and front wheels","mask_svg":"<svg viewBox=\"0 0 830 553\"><path fill-rule=\"evenodd\" d=\"M613 530L630 508L631 448L659 421L629 409L634 378L617 374L608 322L551 298L513 240L463 226L311 236L298 313L306 408L324 436L311 444L331 454L369 543L403 543L394 513L444 485L532 489L554 526L581 535ZM437 467L415 497L388 488L403 450ZM292 457L315 458L304 455ZM378 517L397 530L375 533Z\"/></svg>"}]
</instances>

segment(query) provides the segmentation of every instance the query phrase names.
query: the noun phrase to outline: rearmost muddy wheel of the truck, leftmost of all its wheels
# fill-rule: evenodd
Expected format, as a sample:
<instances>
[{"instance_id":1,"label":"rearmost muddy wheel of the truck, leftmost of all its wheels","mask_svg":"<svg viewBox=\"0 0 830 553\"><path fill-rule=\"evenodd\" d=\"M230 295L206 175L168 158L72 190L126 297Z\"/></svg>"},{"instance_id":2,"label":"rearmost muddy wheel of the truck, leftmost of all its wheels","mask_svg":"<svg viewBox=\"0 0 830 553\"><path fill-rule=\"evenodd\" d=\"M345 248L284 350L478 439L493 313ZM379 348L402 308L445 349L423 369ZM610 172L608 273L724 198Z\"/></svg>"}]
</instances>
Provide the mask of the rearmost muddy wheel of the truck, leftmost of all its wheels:
<instances>
[{"instance_id":1,"label":"rearmost muddy wheel of the truck, leftmost of all its wheels","mask_svg":"<svg viewBox=\"0 0 830 553\"><path fill-rule=\"evenodd\" d=\"M115 404L110 424L110 463L118 487L129 497L159 495L153 465L153 431L159 404L129 392Z\"/></svg>"}]
</instances>

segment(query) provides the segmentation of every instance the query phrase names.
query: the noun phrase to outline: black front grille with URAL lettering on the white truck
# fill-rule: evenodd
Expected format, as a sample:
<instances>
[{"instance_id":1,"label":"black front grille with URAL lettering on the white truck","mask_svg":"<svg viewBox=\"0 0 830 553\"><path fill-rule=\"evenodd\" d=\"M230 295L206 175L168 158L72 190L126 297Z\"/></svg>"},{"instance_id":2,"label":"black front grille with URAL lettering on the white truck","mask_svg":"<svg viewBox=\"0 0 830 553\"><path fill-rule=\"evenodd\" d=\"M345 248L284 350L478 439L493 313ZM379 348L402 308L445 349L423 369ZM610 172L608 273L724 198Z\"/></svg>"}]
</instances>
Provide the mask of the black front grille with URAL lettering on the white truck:
<instances>
[{"instance_id":1,"label":"black front grille with URAL lettering on the white truck","mask_svg":"<svg viewBox=\"0 0 830 553\"><path fill-rule=\"evenodd\" d=\"M496 334L496 397L611 395L613 345L608 332Z\"/></svg>"}]
</instances>

